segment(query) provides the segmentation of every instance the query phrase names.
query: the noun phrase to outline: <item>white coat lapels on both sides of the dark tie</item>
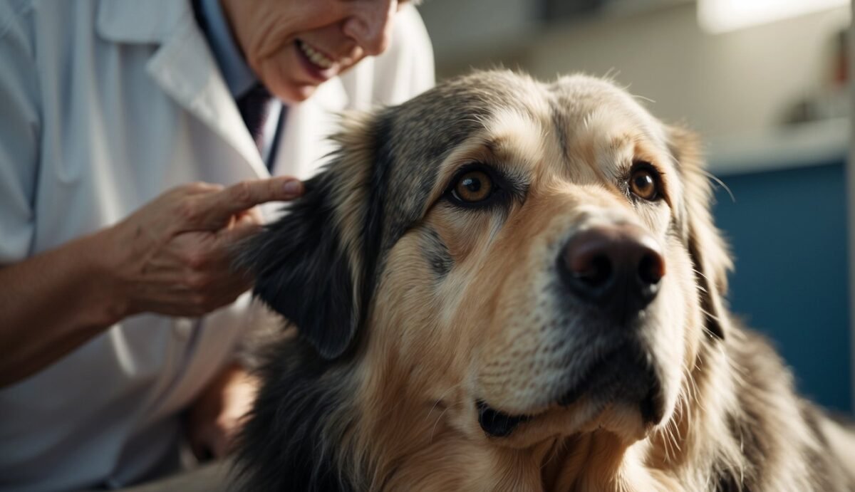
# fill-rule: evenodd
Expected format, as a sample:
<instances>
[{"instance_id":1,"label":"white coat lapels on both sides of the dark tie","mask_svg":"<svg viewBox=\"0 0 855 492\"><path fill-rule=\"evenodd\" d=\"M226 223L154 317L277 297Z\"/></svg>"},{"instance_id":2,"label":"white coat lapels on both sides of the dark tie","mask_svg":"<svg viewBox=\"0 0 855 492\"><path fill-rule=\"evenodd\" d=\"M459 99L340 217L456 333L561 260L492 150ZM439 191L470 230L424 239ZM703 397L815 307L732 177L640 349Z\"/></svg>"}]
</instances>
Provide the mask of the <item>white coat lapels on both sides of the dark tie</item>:
<instances>
[{"instance_id":1,"label":"white coat lapels on both sides of the dark tie","mask_svg":"<svg viewBox=\"0 0 855 492\"><path fill-rule=\"evenodd\" d=\"M208 41L196 24L189 0L101 0L97 15L97 32L108 41L159 44L146 67L152 79L236 149L257 176L268 176ZM292 105L277 160L295 159L289 167L298 168L311 161L314 167L315 147L320 140L316 133L322 132L325 137L332 132L335 126L327 120L348 103L345 87L336 78L321 85L306 102ZM283 152L283 144L290 151Z\"/></svg>"}]
</instances>

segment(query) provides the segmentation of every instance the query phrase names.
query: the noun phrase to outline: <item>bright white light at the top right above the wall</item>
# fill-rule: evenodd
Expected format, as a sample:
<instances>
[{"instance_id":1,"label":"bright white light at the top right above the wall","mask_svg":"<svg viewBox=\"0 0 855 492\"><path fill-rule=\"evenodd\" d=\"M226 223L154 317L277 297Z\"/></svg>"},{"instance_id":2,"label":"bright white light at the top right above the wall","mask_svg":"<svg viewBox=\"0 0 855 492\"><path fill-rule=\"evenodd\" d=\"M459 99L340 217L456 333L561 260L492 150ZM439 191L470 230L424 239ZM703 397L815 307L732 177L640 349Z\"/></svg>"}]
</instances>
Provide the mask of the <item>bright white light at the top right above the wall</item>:
<instances>
[{"instance_id":1,"label":"bright white light at the top right above the wall","mask_svg":"<svg viewBox=\"0 0 855 492\"><path fill-rule=\"evenodd\" d=\"M728 32L848 4L849 0L698 0L698 22L707 32Z\"/></svg>"}]
</instances>

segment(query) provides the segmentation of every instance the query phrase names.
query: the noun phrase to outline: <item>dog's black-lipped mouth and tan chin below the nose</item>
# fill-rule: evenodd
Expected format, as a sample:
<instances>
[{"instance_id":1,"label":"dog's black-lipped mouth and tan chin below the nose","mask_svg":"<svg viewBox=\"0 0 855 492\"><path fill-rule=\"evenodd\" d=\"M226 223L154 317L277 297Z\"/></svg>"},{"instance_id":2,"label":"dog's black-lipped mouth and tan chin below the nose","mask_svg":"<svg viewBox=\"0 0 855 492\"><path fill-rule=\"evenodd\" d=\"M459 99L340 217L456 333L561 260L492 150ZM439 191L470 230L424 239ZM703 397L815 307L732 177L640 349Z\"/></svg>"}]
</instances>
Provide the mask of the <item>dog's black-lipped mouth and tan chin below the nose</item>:
<instances>
[{"instance_id":1,"label":"dog's black-lipped mouth and tan chin below the nose","mask_svg":"<svg viewBox=\"0 0 855 492\"><path fill-rule=\"evenodd\" d=\"M599 429L636 441L663 420L664 401L646 357L635 348L622 347L590 366L548 407L505 413L483 400L475 407L486 436L517 447Z\"/></svg>"}]
</instances>

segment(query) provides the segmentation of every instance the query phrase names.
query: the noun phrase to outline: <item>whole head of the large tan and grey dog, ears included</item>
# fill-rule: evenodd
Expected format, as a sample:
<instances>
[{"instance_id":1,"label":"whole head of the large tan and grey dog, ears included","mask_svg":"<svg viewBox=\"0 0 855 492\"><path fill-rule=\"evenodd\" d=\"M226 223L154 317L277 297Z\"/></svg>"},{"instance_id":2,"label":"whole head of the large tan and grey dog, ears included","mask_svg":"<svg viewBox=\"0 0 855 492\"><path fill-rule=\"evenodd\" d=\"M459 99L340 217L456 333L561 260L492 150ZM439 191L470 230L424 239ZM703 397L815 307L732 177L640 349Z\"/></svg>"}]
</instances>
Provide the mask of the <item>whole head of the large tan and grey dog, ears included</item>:
<instances>
[{"instance_id":1,"label":"whole head of the large tan and grey dog, ears included","mask_svg":"<svg viewBox=\"0 0 855 492\"><path fill-rule=\"evenodd\" d=\"M366 405L394 386L390 405L511 448L634 442L728 336L696 144L610 82L475 73L337 141L245 260L319 357L353 361Z\"/></svg>"}]
</instances>

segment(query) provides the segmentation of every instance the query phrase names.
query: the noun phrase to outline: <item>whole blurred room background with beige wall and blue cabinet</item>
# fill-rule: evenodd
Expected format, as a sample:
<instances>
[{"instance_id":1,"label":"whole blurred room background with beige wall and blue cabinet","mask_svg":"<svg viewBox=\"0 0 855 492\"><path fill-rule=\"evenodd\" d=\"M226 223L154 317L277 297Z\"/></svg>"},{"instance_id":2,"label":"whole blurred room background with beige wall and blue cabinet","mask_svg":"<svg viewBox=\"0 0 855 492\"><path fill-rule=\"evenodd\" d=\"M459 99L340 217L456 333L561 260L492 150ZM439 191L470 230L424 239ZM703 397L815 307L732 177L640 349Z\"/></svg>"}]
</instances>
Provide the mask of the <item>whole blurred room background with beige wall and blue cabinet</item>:
<instances>
[{"instance_id":1,"label":"whole blurred room background with beige wall and blue cabinet","mask_svg":"<svg viewBox=\"0 0 855 492\"><path fill-rule=\"evenodd\" d=\"M608 75L649 98L660 119L699 132L724 185L714 213L736 257L731 307L773 339L805 395L852 413L848 0L426 0L419 9L439 79L476 67Z\"/></svg>"}]
</instances>

